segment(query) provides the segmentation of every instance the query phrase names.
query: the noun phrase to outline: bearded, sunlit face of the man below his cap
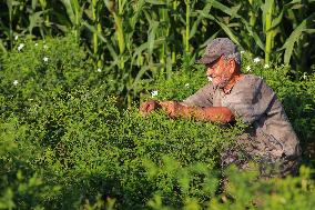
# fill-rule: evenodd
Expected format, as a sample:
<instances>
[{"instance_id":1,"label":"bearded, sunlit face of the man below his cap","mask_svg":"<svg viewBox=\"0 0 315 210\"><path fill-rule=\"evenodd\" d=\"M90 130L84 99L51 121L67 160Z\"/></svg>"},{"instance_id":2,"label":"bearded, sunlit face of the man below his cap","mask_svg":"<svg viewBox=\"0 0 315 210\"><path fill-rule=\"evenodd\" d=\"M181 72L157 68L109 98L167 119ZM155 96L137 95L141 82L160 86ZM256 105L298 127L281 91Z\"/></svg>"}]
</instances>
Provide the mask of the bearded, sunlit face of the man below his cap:
<instances>
[{"instance_id":1,"label":"bearded, sunlit face of the man below his cap","mask_svg":"<svg viewBox=\"0 0 315 210\"><path fill-rule=\"evenodd\" d=\"M212 84L217 88L224 88L231 80L233 71L231 66L223 57L220 57L212 63L206 64L206 77Z\"/></svg>"}]
</instances>

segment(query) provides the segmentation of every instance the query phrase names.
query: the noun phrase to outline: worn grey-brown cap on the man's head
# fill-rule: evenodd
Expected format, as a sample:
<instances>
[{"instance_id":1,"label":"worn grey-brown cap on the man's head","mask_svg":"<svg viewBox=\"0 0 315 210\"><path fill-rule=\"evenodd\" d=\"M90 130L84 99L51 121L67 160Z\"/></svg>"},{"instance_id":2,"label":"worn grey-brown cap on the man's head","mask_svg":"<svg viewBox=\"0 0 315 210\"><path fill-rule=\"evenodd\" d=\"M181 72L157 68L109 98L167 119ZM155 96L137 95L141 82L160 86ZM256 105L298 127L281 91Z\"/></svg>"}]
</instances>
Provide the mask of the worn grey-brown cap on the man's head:
<instances>
[{"instance_id":1,"label":"worn grey-brown cap on the man's head","mask_svg":"<svg viewBox=\"0 0 315 210\"><path fill-rule=\"evenodd\" d=\"M199 63L209 64L221 56L238 53L237 47L228 38L216 38L206 46L203 57L197 60Z\"/></svg>"}]
</instances>

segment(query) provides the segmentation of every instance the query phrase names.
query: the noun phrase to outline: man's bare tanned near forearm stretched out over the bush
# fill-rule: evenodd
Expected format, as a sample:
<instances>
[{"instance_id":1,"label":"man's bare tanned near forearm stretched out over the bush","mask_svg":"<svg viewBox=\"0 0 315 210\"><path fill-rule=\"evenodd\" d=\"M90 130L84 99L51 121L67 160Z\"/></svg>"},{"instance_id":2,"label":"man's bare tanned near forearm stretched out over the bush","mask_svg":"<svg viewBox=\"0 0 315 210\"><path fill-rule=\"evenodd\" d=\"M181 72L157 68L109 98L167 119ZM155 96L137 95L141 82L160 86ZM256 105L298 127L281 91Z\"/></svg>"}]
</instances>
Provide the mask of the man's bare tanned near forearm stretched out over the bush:
<instances>
[{"instance_id":1,"label":"man's bare tanned near forearm stretched out over the bush","mask_svg":"<svg viewBox=\"0 0 315 210\"><path fill-rule=\"evenodd\" d=\"M176 101L159 103L172 118L194 118L196 120L215 122L231 122L234 120L234 114L226 107L189 107Z\"/></svg>"}]
</instances>

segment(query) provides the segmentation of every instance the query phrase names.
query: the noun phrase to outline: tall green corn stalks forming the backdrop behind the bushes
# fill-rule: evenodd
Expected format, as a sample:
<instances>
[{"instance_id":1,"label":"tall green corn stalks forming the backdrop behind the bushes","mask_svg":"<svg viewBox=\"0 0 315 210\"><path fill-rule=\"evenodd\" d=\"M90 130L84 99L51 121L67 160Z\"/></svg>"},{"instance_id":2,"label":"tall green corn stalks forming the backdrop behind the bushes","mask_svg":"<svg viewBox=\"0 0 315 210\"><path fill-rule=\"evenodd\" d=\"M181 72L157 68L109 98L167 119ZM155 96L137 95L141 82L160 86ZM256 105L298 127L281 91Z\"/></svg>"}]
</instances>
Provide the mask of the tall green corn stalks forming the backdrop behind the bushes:
<instances>
[{"instance_id":1,"label":"tall green corn stalks forming the backdrop behind the bushes","mask_svg":"<svg viewBox=\"0 0 315 210\"><path fill-rule=\"evenodd\" d=\"M182 58L194 63L216 37L228 37L265 63L315 69L315 0L1 0L0 51L19 38L73 32L95 68L114 74L128 101L141 80L166 79Z\"/></svg>"}]
</instances>

